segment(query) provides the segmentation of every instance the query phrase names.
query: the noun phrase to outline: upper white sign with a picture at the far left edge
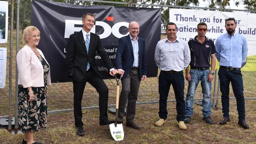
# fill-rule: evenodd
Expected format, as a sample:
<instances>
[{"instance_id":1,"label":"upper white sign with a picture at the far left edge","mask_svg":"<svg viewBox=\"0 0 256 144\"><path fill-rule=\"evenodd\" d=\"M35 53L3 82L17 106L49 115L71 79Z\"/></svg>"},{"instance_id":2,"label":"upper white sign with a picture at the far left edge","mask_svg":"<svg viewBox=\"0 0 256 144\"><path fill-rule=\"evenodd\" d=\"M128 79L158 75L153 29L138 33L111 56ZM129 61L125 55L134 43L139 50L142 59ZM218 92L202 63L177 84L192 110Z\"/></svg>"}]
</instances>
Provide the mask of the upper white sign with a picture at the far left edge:
<instances>
[{"instance_id":1,"label":"upper white sign with a picture at the far left edge","mask_svg":"<svg viewBox=\"0 0 256 144\"><path fill-rule=\"evenodd\" d=\"M0 1L0 43L7 43L8 1Z\"/></svg>"}]
</instances>

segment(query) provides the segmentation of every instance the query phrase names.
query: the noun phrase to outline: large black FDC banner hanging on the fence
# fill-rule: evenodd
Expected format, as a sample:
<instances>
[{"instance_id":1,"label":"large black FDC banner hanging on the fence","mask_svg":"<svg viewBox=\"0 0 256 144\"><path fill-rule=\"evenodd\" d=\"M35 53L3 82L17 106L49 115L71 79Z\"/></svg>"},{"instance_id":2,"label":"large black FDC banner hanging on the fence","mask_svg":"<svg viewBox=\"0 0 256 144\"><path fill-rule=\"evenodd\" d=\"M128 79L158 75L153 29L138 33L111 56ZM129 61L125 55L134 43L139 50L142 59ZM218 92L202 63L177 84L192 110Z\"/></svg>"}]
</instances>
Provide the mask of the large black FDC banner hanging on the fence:
<instances>
[{"instance_id":1,"label":"large black FDC banner hanging on the fence","mask_svg":"<svg viewBox=\"0 0 256 144\"><path fill-rule=\"evenodd\" d=\"M115 66L115 51L120 37L128 35L128 24L136 21L140 25L139 37L146 40L147 77L156 77L158 68L154 51L161 37L161 11L152 8L117 6L79 6L59 2L33 0L31 3L31 25L40 31L41 40L37 48L43 51L50 64L51 81L67 82L65 53L69 35L82 30L82 15L93 13L95 26L91 32L100 36L102 46ZM104 79L111 76L98 55L95 57L98 70Z\"/></svg>"}]
</instances>

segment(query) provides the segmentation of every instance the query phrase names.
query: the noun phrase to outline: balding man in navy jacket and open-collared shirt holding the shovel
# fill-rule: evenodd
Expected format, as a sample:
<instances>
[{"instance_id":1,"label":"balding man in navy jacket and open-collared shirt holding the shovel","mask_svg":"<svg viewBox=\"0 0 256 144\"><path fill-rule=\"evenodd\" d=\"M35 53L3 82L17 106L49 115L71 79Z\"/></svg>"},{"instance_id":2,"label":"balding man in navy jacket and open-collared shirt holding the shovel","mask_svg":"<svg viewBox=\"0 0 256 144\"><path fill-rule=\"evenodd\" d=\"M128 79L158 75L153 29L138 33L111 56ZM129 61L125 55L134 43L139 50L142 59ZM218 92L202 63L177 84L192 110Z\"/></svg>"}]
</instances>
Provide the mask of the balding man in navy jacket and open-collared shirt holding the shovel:
<instances>
[{"instance_id":1,"label":"balding man in navy jacket and open-collared shirt holding the shovel","mask_svg":"<svg viewBox=\"0 0 256 144\"><path fill-rule=\"evenodd\" d=\"M122 117L128 98L126 126L141 129L140 126L134 123L134 116L140 81L147 78L145 40L137 36L139 34L139 24L137 22L130 22L128 31L129 35L119 39L115 58L116 68L122 77L118 122L123 122Z\"/></svg>"}]
</instances>

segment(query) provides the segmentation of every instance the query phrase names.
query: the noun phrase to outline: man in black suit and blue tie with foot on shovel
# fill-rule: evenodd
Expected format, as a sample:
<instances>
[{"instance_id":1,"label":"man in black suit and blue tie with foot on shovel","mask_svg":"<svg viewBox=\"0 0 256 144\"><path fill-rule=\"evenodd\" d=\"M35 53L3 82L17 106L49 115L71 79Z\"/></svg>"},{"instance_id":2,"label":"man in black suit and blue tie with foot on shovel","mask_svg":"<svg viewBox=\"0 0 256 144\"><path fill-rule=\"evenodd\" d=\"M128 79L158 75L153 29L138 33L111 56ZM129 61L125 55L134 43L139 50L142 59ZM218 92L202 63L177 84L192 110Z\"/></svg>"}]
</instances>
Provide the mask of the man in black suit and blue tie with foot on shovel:
<instances>
[{"instance_id":1,"label":"man in black suit and blue tie with foot on shovel","mask_svg":"<svg viewBox=\"0 0 256 144\"><path fill-rule=\"evenodd\" d=\"M95 62L96 51L104 61L109 74L117 72L108 54L101 46L100 37L90 30L93 28L95 17L86 13L82 17L83 29L70 35L67 44L66 64L69 76L72 78L74 91L74 118L77 134L83 136L82 98L86 82L89 82L99 93L100 126L110 124L108 120L108 87L100 77Z\"/></svg>"}]
</instances>

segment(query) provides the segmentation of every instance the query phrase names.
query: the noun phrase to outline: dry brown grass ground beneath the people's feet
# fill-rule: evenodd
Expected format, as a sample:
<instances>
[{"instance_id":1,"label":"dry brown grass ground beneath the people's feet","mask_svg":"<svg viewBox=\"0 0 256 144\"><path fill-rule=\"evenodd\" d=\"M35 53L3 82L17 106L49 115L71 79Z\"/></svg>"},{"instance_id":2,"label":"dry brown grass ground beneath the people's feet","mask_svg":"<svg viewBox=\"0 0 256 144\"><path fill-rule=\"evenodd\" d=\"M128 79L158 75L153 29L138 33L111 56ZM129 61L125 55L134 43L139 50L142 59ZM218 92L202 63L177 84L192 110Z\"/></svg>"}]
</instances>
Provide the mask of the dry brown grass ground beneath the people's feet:
<instances>
[{"instance_id":1,"label":"dry brown grass ground beneath the people's feet","mask_svg":"<svg viewBox=\"0 0 256 144\"><path fill-rule=\"evenodd\" d=\"M212 119L216 124L208 125L202 120L202 107L194 105L191 124L188 129L182 131L176 126L176 103L168 103L167 122L161 127L154 126L158 120L158 104L138 105L135 122L143 129L135 130L124 126L124 140L122 144L256 144L256 119L255 108L251 105L256 102L246 102L246 119L250 129L242 129L237 125L237 111L235 100L231 100L231 121L221 126L221 111L212 109ZM109 119L114 115L109 114ZM98 109L83 111L85 136L76 134L73 113L48 114L48 126L45 130L35 133L35 139L44 144L114 144L117 143L111 137L109 126L99 126ZM21 142L23 135L11 135L6 129L0 129L0 139L3 144L17 144ZM0 143L1 143L0 142Z\"/></svg>"}]
</instances>

